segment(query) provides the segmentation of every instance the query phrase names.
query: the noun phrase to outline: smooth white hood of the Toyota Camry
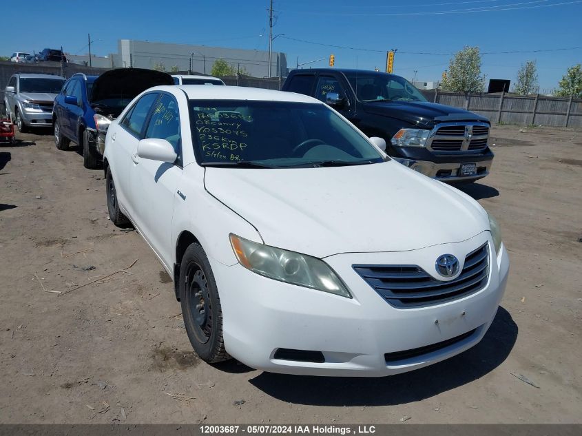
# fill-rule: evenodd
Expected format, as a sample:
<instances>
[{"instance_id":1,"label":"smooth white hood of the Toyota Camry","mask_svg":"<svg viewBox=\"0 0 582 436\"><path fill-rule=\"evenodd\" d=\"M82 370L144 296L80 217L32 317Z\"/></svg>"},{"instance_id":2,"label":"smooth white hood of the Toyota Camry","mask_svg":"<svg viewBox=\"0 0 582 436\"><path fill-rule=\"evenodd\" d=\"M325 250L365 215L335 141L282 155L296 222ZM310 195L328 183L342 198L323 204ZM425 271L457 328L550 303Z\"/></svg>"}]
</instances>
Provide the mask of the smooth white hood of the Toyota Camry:
<instances>
[{"instance_id":1,"label":"smooth white hood of the Toyota Camry","mask_svg":"<svg viewBox=\"0 0 582 436\"><path fill-rule=\"evenodd\" d=\"M351 167L207 167L205 187L264 243L324 258L459 242L489 229L484 209L453 187L388 161Z\"/></svg>"}]
</instances>

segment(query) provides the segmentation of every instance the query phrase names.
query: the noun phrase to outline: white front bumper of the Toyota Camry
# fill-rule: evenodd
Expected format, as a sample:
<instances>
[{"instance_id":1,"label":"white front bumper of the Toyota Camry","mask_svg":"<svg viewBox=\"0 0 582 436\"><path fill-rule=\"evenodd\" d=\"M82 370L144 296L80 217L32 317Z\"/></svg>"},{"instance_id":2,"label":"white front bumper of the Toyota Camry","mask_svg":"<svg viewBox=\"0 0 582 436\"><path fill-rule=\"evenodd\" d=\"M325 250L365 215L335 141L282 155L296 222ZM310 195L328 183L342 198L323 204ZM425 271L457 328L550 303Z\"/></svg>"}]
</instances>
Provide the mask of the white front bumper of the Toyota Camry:
<instances>
[{"instance_id":1,"label":"white front bumper of the Toyota Camry","mask_svg":"<svg viewBox=\"0 0 582 436\"><path fill-rule=\"evenodd\" d=\"M490 275L484 289L458 300L397 309L354 271L353 264L417 264L427 272L451 253L464 259L488 242ZM223 313L225 347L253 368L275 373L379 377L445 360L477 344L489 328L505 291L508 256L495 256L490 232L456 244L386 253L345 253L324 259L344 280L353 298L270 280L240 264L210 259ZM436 272L435 272L436 276ZM437 321L438 322L435 322ZM414 350L457 338L442 348L389 362L386 353ZM318 351L324 362L282 360L278 349Z\"/></svg>"}]
</instances>

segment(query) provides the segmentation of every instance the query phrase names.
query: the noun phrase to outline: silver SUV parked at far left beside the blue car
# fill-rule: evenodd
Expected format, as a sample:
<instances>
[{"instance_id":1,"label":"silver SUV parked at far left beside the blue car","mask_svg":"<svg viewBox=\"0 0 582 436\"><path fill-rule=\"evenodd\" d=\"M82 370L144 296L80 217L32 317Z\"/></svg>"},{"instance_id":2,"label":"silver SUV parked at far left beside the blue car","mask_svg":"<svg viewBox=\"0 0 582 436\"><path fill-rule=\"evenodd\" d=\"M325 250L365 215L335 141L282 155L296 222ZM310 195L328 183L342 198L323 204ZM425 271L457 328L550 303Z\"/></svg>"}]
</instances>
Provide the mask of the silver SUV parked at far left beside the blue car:
<instances>
[{"instance_id":1,"label":"silver SUV parked at far left beside the blue car","mask_svg":"<svg viewBox=\"0 0 582 436\"><path fill-rule=\"evenodd\" d=\"M65 79L54 74L13 74L4 90L6 115L12 116L20 132L52 127L54 97L63 83Z\"/></svg>"}]
</instances>

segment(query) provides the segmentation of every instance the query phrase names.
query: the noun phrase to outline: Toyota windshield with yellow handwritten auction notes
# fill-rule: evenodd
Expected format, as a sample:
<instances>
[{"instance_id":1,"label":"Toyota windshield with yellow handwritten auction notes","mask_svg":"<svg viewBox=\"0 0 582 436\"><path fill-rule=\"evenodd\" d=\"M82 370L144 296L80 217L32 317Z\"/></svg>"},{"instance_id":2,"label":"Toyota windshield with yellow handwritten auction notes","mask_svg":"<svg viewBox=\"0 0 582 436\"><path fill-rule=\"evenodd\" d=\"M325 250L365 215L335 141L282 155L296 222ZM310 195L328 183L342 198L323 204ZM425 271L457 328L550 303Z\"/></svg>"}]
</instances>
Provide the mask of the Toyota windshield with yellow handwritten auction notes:
<instances>
[{"instance_id":1,"label":"Toyota windshield with yellow handwritten auction notes","mask_svg":"<svg viewBox=\"0 0 582 436\"><path fill-rule=\"evenodd\" d=\"M388 160L326 105L247 100L189 105L201 165L318 167Z\"/></svg>"}]
</instances>

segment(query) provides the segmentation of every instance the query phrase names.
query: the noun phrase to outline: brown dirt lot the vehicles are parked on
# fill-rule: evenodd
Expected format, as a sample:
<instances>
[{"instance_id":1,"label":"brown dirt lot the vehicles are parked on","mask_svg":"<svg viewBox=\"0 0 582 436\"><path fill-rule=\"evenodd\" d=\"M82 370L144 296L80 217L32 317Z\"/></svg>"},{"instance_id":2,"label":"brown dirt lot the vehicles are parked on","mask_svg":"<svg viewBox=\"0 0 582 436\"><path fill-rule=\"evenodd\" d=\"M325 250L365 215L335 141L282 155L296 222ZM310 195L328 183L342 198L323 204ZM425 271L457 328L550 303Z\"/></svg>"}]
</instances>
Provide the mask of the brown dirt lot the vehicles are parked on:
<instances>
[{"instance_id":1,"label":"brown dirt lot the vehicles are parked on","mask_svg":"<svg viewBox=\"0 0 582 436\"><path fill-rule=\"evenodd\" d=\"M492 174L464 189L510 252L486 338L380 380L199 362L154 253L108 220L103 173L17 134L0 146L0 422L582 422L582 132L523 130L495 127Z\"/></svg>"}]
</instances>

